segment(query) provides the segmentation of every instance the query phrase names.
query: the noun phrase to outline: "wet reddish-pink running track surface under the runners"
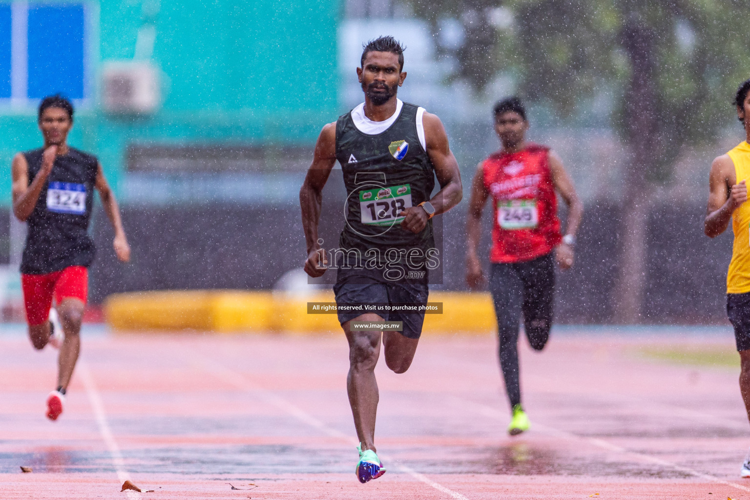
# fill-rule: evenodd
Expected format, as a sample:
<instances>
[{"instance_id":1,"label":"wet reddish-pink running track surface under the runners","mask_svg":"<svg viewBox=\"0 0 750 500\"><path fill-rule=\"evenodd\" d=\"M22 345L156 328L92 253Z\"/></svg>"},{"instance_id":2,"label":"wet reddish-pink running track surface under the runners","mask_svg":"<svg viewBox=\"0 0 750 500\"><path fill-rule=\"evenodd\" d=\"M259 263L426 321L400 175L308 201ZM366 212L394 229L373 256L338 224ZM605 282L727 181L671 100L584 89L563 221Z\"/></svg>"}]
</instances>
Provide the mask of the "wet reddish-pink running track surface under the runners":
<instances>
[{"instance_id":1,"label":"wet reddish-pink running track surface under the runners","mask_svg":"<svg viewBox=\"0 0 750 500\"><path fill-rule=\"evenodd\" d=\"M388 472L364 485L343 337L84 330L65 413L49 422L56 352L0 328L0 498L750 499L737 370L636 354L732 349L726 328L566 328L541 354L524 341L533 428L516 438L493 337L423 337L407 373L378 367ZM128 478L154 493L120 493Z\"/></svg>"}]
</instances>

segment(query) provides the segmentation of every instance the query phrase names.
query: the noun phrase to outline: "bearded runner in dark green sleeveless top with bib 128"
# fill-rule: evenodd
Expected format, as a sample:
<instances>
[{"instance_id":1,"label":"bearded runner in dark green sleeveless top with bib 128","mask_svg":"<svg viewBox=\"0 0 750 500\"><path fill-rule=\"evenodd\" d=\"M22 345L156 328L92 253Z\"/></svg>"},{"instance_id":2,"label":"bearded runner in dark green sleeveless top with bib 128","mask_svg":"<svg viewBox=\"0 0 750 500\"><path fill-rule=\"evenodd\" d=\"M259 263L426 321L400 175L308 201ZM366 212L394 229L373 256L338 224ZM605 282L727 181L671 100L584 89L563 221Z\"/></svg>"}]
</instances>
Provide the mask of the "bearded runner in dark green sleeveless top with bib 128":
<instances>
[{"instance_id":1,"label":"bearded runner in dark green sleeveless top with bib 128","mask_svg":"<svg viewBox=\"0 0 750 500\"><path fill-rule=\"evenodd\" d=\"M322 191L336 160L341 163L349 197L339 246L347 260L354 256L356 262L338 269L334 291L340 308L425 304L428 272L433 268L430 259L437 256L431 218L461 199L458 163L440 118L396 97L407 77L403 52L393 37L380 37L365 46L362 67L357 68L365 103L323 127L299 193L308 247L305 271L320 277L328 265L318 240ZM436 176L441 189L431 196ZM405 276L404 268L417 271ZM386 472L374 445L378 402L374 369L381 338L386 364L395 373L404 373L414 357L424 313L340 309L338 319L350 349L347 391L360 442L356 474L365 483ZM403 331L353 329L356 322L385 319L403 322Z\"/></svg>"}]
</instances>

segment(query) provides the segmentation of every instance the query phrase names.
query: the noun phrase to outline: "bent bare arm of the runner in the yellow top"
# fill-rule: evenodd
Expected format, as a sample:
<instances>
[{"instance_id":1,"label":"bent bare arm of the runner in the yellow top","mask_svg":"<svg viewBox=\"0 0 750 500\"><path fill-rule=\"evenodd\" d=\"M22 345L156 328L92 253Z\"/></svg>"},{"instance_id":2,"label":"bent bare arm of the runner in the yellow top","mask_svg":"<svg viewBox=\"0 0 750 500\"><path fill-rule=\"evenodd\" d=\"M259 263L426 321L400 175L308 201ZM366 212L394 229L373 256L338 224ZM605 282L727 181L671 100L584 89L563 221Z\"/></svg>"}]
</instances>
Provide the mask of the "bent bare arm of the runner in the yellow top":
<instances>
[{"instance_id":1,"label":"bent bare arm of the runner in the yellow top","mask_svg":"<svg viewBox=\"0 0 750 500\"><path fill-rule=\"evenodd\" d=\"M730 187L731 186L731 187ZM728 154L716 157L709 174L708 206L703 232L715 238L727 229L733 212L748 199L745 179L737 182L734 162Z\"/></svg>"}]
</instances>

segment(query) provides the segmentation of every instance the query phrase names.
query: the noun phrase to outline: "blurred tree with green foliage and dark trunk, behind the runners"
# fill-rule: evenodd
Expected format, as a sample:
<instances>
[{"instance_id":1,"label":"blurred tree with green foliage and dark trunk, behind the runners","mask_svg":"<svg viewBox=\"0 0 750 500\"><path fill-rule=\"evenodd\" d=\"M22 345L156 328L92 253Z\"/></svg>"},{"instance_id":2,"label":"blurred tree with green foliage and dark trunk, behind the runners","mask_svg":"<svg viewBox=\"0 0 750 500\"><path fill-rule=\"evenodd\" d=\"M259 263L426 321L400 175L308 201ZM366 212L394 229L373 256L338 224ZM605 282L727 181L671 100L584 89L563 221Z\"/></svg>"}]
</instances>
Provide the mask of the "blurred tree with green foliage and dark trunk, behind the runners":
<instances>
[{"instance_id":1,"label":"blurred tree with green foliage and dark trunk, behind the runners","mask_svg":"<svg viewBox=\"0 0 750 500\"><path fill-rule=\"evenodd\" d=\"M641 321L649 187L670 178L685 145L713 141L733 119L733 94L750 76L750 3L412 2L436 30L446 17L463 20L457 76L475 88L497 70L512 72L518 94L561 117L582 114L597 94L613 100L611 122L628 148L615 319Z\"/></svg>"}]
</instances>

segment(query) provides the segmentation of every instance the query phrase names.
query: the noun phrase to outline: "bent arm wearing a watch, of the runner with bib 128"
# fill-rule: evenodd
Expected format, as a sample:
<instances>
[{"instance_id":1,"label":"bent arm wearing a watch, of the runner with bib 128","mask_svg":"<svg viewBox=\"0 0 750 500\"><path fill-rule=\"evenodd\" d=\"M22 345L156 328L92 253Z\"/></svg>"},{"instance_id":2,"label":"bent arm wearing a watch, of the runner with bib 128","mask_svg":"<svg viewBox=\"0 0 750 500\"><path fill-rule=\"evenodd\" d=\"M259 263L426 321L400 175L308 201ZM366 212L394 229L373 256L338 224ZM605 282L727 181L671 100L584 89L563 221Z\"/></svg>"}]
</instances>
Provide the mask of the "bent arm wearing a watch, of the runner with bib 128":
<instances>
[{"instance_id":1,"label":"bent arm wearing a watch, of the runner with bib 128","mask_svg":"<svg viewBox=\"0 0 750 500\"><path fill-rule=\"evenodd\" d=\"M425 142L427 154L435 167L435 176L440 183L440 191L430 200L435 208L435 215L443 214L458 205L463 197L461 174L458 162L448 144L448 136L443 122L437 115L425 112L422 118L425 126ZM401 227L411 232L421 232L429 220L427 212L422 207L410 207L401 212L405 215Z\"/></svg>"}]
</instances>

